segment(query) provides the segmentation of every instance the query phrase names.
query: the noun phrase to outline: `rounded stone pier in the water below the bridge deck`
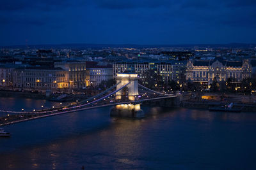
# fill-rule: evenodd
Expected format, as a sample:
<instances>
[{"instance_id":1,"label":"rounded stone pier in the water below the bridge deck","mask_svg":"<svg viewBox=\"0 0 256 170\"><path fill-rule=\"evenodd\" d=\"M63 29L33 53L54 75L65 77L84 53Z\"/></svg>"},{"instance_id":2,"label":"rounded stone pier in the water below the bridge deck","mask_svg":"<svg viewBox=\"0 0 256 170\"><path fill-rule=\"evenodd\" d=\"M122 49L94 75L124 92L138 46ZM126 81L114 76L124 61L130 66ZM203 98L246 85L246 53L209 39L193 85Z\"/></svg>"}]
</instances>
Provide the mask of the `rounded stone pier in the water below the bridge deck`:
<instances>
[{"instance_id":1,"label":"rounded stone pier in the water below the bridge deck","mask_svg":"<svg viewBox=\"0 0 256 170\"><path fill-rule=\"evenodd\" d=\"M144 111L141 110L140 104L118 104L111 109L111 117L131 117L143 118Z\"/></svg>"}]
</instances>

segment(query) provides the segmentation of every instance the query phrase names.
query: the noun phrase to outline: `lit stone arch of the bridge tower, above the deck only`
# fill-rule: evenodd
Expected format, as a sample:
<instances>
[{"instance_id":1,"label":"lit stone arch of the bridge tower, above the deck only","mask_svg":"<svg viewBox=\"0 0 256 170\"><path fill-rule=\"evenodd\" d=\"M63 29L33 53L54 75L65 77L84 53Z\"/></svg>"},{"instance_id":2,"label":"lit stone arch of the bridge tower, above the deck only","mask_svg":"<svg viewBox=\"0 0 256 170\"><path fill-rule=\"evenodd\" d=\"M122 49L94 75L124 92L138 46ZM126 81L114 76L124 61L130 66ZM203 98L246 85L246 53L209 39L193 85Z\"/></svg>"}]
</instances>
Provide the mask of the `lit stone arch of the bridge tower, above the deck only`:
<instances>
[{"instance_id":1,"label":"lit stone arch of the bridge tower, above the deck only","mask_svg":"<svg viewBox=\"0 0 256 170\"><path fill-rule=\"evenodd\" d=\"M120 89L127 83L128 88L128 99L129 101L135 101L138 99L138 74L127 74L127 73L118 73L116 74L116 89ZM122 90L116 92L116 99L121 99L122 97Z\"/></svg>"}]
</instances>

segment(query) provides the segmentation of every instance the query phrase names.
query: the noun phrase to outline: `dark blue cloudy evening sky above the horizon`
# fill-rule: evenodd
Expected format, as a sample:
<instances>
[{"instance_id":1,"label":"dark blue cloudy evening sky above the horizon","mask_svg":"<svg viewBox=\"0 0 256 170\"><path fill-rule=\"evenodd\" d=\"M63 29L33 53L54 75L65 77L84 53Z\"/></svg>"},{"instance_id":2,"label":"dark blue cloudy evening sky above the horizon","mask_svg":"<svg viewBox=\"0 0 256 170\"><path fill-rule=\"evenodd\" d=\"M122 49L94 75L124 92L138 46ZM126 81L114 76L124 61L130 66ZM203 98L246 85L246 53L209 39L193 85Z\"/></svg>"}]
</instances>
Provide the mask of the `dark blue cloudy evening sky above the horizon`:
<instances>
[{"instance_id":1,"label":"dark blue cloudy evening sky above the horizon","mask_svg":"<svg viewBox=\"0 0 256 170\"><path fill-rule=\"evenodd\" d=\"M255 0L0 1L0 45L256 43Z\"/></svg>"}]
</instances>

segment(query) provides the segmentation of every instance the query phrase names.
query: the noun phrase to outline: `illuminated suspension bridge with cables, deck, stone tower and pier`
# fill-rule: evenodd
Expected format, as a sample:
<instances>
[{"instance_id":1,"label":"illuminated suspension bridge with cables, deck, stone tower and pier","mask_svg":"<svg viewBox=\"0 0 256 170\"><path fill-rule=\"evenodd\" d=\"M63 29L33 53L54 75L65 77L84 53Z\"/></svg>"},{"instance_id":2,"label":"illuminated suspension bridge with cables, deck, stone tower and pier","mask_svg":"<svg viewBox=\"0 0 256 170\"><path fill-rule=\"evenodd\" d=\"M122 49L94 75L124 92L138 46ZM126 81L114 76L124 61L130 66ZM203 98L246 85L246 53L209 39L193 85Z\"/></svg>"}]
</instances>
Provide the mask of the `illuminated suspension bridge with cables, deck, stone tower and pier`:
<instances>
[{"instance_id":1,"label":"illuminated suspension bridge with cables, deck, stone tower and pier","mask_svg":"<svg viewBox=\"0 0 256 170\"><path fill-rule=\"evenodd\" d=\"M177 96L166 94L166 92L156 92L140 85L138 83L138 74L120 73L116 76L116 85L84 101L71 103L59 108L49 108L37 111L8 111L0 109L0 112L11 115L4 119L2 118L3 120L0 121L0 126L106 106L115 106L111 110L111 116L144 117L143 110L140 108L141 103L145 101L166 101L173 97Z\"/></svg>"}]
</instances>

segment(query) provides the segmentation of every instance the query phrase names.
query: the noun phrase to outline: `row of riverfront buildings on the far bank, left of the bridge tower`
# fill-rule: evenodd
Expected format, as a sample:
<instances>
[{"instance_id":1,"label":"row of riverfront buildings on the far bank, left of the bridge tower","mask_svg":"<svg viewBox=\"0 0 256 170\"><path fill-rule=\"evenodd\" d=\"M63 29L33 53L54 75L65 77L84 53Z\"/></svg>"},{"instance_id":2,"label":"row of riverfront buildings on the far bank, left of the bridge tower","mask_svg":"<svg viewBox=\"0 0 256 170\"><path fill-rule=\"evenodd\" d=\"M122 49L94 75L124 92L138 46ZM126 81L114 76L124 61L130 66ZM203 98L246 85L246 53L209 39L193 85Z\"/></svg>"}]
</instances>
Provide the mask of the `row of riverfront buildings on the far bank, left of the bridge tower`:
<instances>
[{"instance_id":1,"label":"row of riverfront buildings on the far bank, left of the bridge tower","mask_svg":"<svg viewBox=\"0 0 256 170\"><path fill-rule=\"evenodd\" d=\"M26 90L70 90L99 85L113 77L112 66L86 62L54 62L54 67L28 64L0 65L1 87ZM88 69L86 69L88 66Z\"/></svg>"}]
</instances>

